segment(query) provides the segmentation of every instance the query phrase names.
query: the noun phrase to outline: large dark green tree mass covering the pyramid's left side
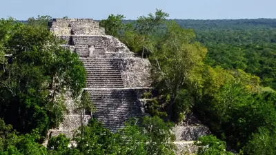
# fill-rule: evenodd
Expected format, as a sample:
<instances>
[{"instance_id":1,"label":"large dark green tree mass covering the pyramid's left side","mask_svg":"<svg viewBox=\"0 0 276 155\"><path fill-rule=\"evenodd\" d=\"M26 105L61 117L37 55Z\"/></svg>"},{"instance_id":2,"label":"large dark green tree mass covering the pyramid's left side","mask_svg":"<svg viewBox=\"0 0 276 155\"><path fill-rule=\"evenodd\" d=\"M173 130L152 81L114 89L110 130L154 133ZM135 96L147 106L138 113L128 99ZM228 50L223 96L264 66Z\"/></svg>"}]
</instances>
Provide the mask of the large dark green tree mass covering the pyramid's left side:
<instances>
[{"instance_id":1,"label":"large dark green tree mass covering the pyramid's left side","mask_svg":"<svg viewBox=\"0 0 276 155\"><path fill-rule=\"evenodd\" d=\"M85 68L47 28L12 19L0 25L1 49L10 54L2 53L0 116L20 133L37 128L43 136L61 122L66 90L77 99L86 87Z\"/></svg>"}]
</instances>

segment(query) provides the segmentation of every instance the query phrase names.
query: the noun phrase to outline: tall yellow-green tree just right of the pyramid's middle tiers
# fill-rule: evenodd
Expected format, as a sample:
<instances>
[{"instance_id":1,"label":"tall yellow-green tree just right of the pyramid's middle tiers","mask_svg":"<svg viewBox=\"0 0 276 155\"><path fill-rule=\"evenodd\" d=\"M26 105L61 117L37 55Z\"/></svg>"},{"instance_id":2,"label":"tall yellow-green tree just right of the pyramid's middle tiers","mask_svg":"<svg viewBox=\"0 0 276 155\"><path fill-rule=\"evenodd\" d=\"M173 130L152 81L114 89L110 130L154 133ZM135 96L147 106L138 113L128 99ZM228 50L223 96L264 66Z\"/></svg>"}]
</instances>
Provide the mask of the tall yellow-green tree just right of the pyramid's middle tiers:
<instances>
[{"instance_id":1,"label":"tall yellow-green tree just right of the pyramid's middle tiers","mask_svg":"<svg viewBox=\"0 0 276 155\"><path fill-rule=\"evenodd\" d=\"M161 94L169 94L166 112L175 121L190 111L194 104L193 94L201 83L206 48L195 42L193 30L180 28L175 22L168 23L168 30L161 42L150 47L152 79ZM158 45L158 48L155 48ZM173 115L172 115L173 114Z\"/></svg>"}]
</instances>

